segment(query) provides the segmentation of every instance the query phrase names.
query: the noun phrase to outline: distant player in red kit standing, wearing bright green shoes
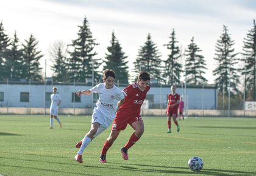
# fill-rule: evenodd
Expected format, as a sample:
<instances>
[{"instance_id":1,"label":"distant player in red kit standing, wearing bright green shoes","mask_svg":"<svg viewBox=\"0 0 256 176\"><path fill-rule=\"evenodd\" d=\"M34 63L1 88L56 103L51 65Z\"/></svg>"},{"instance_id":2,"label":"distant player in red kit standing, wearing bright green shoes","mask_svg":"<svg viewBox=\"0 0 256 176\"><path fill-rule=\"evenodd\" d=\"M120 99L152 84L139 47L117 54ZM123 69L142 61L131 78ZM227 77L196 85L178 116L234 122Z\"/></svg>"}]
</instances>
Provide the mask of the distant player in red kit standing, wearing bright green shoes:
<instances>
[{"instance_id":1,"label":"distant player in red kit standing, wearing bright green shoes","mask_svg":"<svg viewBox=\"0 0 256 176\"><path fill-rule=\"evenodd\" d=\"M177 126L177 132L180 131L180 126L178 121L176 120L178 116L178 108L180 102L180 95L176 93L176 86L171 86L171 92L168 94L168 103L166 109L167 123L168 123L168 132L171 133L171 118L173 119L174 123Z\"/></svg>"}]
</instances>

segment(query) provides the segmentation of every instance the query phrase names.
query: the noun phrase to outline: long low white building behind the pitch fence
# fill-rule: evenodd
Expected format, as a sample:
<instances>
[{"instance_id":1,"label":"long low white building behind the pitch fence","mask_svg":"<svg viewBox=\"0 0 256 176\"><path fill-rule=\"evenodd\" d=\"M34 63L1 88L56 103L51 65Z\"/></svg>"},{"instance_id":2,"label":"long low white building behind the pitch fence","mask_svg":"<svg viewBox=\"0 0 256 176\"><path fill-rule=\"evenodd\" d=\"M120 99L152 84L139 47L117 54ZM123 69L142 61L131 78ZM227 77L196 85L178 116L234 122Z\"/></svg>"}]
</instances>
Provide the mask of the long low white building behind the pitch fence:
<instances>
[{"instance_id":1,"label":"long low white building behind the pitch fence","mask_svg":"<svg viewBox=\"0 0 256 176\"><path fill-rule=\"evenodd\" d=\"M76 95L74 96L74 92L77 90L90 89L91 85L88 84L47 83L44 85L44 83L38 82L12 81L8 84L6 82L0 83L0 107L48 108L51 104L52 87L57 87L57 92L60 93L62 98L60 108L90 108L98 100L98 95L96 94L94 94L94 100L91 95L83 95L80 98ZM124 87L126 86L119 86L120 89ZM149 109L165 109L168 93L170 92L170 86L151 85L151 90L146 98L149 101ZM184 87L177 85L176 92L183 97L185 106L188 109L216 109L218 106L218 93L213 85L204 86L204 89L202 86L187 86L187 91Z\"/></svg>"}]
</instances>

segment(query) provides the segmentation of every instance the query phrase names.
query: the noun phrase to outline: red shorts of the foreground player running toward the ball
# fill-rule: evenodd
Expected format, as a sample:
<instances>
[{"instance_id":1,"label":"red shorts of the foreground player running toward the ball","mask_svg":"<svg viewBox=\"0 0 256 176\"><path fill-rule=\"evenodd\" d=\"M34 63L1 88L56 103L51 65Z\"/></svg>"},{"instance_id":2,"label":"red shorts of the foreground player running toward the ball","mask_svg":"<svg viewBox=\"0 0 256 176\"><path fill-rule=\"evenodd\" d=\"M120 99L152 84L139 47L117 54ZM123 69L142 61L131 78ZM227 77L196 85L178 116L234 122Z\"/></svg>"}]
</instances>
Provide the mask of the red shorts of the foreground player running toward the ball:
<instances>
[{"instance_id":1,"label":"red shorts of the foreground player running toward the ball","mask_svg":"<svg viewBox=\"0 0 256 176\"><path fill-rule=\"evenodd\" d=\"M140 115L138 117L116 116L112 124L112 130L113 131L124 130L126 129L127 124L130 124L130 126L132 126L132 123L135 121L143 121L143 120Z\"/></svg>"}]
</instances>

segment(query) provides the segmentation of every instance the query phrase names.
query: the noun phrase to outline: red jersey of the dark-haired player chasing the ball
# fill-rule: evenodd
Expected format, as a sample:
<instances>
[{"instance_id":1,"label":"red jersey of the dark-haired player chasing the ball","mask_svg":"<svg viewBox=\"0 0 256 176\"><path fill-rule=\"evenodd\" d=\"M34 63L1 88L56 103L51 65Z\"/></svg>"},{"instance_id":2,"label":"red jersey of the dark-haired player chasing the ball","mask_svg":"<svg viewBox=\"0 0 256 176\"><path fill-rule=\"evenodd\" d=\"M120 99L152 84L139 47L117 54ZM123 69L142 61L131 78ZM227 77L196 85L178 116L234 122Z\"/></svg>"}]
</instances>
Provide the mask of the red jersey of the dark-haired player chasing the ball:
<instances>
[{"instance_id":1,"label":"red jersey of the dark-haired player chasing the ball","mask_svg":"<svg viewBox=\"0 0 256 176\"><path fill-rule=\"evenodd\" d=\"M124 88L125 99L124 104L120 106L120 109L116 113L119 117L139 117L140 107L146 98L146 95L150 89L148 85L144 91L141 91L138 87L138 83L133 83Z\"/></svg>"}]
</instances>

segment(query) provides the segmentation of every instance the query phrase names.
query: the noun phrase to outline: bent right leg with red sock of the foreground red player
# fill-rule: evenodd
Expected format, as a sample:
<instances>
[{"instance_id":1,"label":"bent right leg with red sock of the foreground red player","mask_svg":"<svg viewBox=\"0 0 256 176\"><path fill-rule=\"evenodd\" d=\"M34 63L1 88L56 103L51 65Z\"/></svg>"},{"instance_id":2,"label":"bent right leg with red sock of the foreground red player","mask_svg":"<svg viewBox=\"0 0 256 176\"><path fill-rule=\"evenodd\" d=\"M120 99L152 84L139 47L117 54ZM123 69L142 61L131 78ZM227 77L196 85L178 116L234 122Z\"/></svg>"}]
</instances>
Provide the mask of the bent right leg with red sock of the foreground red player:
<instances>
[{"instance_id":1,"label":"bent right leg with red sock of the foreground red player","mask_svg":"<svg viewBox=\"0 0 256 176\"><path fill-rule=\"evenodd\" d=\"M123 146L123 148L121 149L121 153L123 155L124 160L128 160L128 149L130 149L130 147L132 147L141 137L141 135L143 135L144 133L144 123L143 121L141 121L141 117L140 120L134 121L132 123L132 127L133 129L135 129L135 132L133 132L133 134L130 136L130 139L127 141L127 143Z\"/></svg>"}]
</instances>

